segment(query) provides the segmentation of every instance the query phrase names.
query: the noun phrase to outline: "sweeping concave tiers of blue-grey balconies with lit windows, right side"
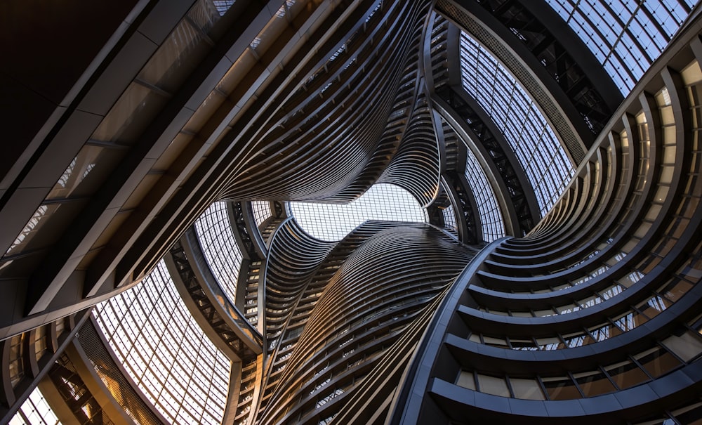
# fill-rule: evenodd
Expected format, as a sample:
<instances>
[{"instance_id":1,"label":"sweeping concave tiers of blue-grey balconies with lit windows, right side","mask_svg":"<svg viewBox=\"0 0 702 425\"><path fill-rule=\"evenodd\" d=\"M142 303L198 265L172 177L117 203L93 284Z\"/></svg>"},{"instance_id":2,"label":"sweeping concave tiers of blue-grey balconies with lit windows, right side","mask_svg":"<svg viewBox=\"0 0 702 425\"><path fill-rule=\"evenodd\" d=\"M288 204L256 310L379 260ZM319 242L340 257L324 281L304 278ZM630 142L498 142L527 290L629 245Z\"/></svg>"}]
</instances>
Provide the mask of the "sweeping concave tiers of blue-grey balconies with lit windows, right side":
<instances>
[{"instance_id":1,"label":"sweeping concave tiers of blue-grey balconies with lit windows, right side","mask_svg":"<svg viewBox=\"0 0 702 425\"><path fill-rule=\"evenodd\" d=\"M694 411L699 28L644 77L550 214L527 237L493 244L454 287L394 423L619 423Z\"/></svg>"}]
</instances>

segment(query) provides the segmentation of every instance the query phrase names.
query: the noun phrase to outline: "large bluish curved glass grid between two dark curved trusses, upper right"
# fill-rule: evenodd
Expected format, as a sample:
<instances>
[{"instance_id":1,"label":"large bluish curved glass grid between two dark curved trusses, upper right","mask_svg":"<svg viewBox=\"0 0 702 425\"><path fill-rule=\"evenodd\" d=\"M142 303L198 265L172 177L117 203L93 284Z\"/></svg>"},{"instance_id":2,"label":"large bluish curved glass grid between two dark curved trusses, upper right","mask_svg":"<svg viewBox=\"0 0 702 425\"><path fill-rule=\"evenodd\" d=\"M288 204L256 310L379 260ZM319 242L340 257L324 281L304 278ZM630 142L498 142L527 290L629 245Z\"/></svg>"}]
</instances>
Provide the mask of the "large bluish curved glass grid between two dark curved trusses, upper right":
<instances>
[{"instance_id":1,"label":"large bluish curved glass grid between two dark curved trusses, upper right","mask_svg":"<svg viewBox=\"0 0 702 425\"><path fill-rule=\"evenodd\" d=\"M526 89L498 60L461 32L463 89L503 133L534 188L544 216L574 175L573 164Z\"/></svg>"}]
</instances>

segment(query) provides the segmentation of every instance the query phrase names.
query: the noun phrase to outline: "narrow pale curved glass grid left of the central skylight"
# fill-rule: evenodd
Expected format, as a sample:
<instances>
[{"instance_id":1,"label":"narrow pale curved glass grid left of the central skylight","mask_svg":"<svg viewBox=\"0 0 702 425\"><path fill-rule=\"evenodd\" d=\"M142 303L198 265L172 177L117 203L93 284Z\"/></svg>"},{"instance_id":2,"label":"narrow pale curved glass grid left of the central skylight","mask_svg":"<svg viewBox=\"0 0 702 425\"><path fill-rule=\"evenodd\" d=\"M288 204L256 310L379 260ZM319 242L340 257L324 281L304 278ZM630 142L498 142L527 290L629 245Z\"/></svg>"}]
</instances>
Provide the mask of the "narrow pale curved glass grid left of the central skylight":
<instances>
[{"instance_id":1,"label":"narrow pale curved glass grid left of the central skylight","mask_svg":"<svg viewBox=\"0 0 702 425\"><path fill-rule=\"evenodd\" d=\"M234 304L241 268L241 249L227 215L227 204L215 202L195 221L195 233L210 267L229 301Z\"/></svg>"}]
</instances>

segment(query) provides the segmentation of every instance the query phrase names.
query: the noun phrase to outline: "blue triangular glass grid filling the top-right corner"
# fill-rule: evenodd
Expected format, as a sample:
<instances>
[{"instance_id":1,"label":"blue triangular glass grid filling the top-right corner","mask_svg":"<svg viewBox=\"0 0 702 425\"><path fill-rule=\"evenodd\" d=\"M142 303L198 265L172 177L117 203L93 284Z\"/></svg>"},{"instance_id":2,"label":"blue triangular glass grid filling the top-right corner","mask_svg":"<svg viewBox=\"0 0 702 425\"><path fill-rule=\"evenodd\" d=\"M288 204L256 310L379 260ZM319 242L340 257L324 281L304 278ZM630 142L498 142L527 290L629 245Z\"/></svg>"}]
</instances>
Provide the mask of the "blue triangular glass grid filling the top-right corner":
<instances>
[{"instance_id":1,"label":"blue triangular glass grid filling the top-right corner","mask_svg":"<svg viewBox=\"0 0 702 425\"><path fill-rule=\"evenodd\" d=\"M668 45L694 0L546 0L600 60L624 96Z\"/></svg>"}]
</instances>

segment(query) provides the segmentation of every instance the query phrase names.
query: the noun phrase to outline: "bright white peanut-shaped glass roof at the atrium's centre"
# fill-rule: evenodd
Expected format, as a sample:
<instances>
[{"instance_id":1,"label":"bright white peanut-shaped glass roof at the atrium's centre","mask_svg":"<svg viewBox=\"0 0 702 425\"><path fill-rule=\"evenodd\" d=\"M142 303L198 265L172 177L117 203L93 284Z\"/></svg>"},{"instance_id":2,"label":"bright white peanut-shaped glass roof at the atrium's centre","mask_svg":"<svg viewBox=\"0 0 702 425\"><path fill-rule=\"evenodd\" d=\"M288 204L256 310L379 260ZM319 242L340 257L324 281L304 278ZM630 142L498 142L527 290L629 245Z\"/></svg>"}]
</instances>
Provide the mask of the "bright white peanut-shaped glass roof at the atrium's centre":
<instances>
[{"instance_id":1,"label":"bright white peanut-shaped glass roof at the atrium's centre","mask_svg":"<svg viewBox=\"0 0 702 425\"><path fill-rule=\"evenodd\" d=\"M348 204L289 202L287 209L308 235L329 242L343 239L366 220L429 221L426 209L409 192L387 183L371 186Z\"/></svg>"}]
</instances>

